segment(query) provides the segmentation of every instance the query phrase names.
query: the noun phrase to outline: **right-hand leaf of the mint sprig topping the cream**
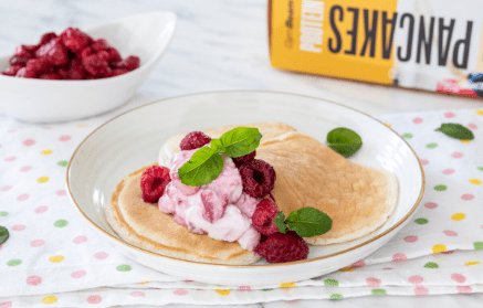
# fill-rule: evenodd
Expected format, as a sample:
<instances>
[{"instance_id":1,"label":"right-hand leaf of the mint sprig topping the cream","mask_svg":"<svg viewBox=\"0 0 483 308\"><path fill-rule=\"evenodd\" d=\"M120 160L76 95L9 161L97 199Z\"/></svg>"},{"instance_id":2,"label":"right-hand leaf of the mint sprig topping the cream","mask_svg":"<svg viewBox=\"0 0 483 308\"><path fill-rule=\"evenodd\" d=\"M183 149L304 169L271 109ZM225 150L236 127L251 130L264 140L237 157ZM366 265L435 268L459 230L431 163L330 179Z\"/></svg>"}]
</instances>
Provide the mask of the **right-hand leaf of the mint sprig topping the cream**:
<instances>
[{"instance_id":1,"label":"right-hand leaf of the mint sprig topping the cream","mask_svg":"<svg viewBox=\"0 0 483 308\"><path fill-rule=\"evenodd\" d=\"M260 146L260 139L262 134L253 127L237 127L220 137L224 146L223 153L228 157L242 157L253 152Z\"/></svg>"}]
</instances>

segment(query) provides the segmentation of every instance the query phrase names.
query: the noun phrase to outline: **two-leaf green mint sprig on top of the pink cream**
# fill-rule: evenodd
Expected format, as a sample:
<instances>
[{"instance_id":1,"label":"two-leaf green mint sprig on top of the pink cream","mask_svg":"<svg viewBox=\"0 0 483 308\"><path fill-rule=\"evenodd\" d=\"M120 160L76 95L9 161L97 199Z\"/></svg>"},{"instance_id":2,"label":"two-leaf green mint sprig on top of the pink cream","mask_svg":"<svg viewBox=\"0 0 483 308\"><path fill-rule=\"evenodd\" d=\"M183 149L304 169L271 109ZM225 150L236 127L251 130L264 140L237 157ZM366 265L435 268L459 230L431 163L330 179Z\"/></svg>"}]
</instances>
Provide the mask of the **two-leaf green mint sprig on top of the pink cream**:
<instances>
[{"instance_id":1,"label":"two-leaf green mint sprig on top of the pink cream","mask_svg":"<svg viewBox=\"0 0 483 308\"><path fill-rule=\"evenodd\" d=\"M181 183L190 187L200 187L211 183L223 170L223 158L242 157L253 152L262 139L258 128L237 127L219 139L211 139L210 147L199 148L193 156L181 168L178 169L178 177Z\"/></svg>"}]
</instances>

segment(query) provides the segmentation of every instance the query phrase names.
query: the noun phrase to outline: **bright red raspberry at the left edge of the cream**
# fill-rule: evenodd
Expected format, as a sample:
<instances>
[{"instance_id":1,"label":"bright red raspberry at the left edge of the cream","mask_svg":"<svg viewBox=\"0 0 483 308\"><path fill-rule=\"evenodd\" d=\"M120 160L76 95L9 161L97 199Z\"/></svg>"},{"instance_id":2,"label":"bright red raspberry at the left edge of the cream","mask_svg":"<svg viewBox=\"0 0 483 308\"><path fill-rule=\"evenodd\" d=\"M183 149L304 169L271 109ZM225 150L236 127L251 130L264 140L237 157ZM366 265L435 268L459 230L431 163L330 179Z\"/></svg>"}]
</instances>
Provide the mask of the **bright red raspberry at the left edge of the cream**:
<instances>
[{"instance_id":1,"label":"bright red raspberry at the left edge of the cream","mask_svg":"<svg viewBox=\"0 0 483 308\"><path fill-rule=\"evenodd\" d=\"M169 169L160 166L147 168L140 176L140 189L145 202L156 203L171 181Z\"/></svg>"}]
</instances>

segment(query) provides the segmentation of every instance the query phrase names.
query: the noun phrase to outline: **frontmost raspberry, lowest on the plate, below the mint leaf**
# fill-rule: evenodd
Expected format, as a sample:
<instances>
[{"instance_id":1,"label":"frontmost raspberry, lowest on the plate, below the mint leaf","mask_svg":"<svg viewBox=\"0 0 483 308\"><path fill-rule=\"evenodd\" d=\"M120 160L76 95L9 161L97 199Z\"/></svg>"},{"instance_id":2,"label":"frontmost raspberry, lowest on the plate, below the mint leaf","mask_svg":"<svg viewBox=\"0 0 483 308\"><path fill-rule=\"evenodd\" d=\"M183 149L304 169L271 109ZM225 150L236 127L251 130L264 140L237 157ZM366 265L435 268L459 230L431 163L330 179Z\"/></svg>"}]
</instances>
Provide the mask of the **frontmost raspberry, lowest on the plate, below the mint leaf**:
<instances>
[{"instance_id":1,"label":"frontmost raspberry, lowest on the plate, below the mint leaf","mask_svg":"<svg viewBox=\"0 0 483 308\"><path fill-rule=\"evenodd\" d=\"M294 231L277 232L261 242L254 252L269 263L284 263L307 258L308 245Z\"/></svg>"}]
</instances>

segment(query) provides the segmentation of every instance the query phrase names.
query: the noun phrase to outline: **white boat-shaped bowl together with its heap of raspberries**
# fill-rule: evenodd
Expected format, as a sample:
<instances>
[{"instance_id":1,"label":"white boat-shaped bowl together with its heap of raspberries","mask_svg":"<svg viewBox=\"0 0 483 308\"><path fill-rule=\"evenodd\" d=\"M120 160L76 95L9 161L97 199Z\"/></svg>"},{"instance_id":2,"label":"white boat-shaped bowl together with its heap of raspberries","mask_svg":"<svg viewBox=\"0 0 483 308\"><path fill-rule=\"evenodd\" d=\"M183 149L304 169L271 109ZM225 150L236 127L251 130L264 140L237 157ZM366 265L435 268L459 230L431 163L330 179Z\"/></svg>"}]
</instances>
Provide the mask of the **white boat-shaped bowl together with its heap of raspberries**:
<instances>
[{"instance_id":1,"label":"white boat-shaped bowl together with its heap of raspberries","mask_svg":"<svg viewBox=\"0 0 483 308\"><path fill-rule=\"evenodd\" d=\"M126 103L155 68L176 26L172 12L124 18L40 35L0 56L0 113L66 121Z\"/></svg>"}]
</instances>

